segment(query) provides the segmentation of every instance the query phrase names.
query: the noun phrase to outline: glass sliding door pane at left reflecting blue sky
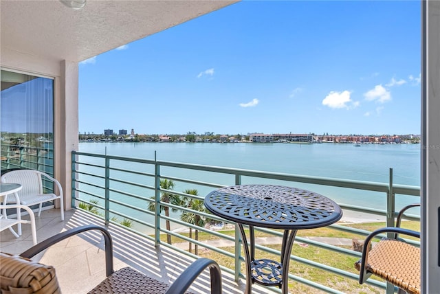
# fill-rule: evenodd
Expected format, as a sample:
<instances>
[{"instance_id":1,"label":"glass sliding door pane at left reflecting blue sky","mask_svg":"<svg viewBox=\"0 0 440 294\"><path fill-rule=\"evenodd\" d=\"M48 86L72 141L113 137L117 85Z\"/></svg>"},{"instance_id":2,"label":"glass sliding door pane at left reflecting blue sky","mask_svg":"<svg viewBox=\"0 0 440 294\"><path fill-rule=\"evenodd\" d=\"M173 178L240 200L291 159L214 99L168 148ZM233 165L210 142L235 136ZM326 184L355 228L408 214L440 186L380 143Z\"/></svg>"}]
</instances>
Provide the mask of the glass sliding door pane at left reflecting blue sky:
<instances>
[{"instance_id":1,"label":"glass sliding door pane at left reflecting blue sky","mask_svg":"<svg viewBox=\"0 0 440 294\"><path fill-rule=\"evenodd\" d=\"M54 80L1 70L1 172L54 174Z\"/></svg>"}]
</instances>

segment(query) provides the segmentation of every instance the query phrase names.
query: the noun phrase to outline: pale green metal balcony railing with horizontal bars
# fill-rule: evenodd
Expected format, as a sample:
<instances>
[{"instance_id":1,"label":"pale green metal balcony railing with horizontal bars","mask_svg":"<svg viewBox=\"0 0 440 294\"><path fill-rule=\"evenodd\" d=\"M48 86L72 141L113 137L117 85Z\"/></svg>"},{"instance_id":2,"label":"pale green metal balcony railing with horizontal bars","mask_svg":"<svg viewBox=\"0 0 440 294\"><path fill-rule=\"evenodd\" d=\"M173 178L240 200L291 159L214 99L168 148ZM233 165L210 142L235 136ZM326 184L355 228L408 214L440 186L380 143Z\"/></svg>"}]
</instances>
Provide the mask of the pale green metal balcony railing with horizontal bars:
<instances>
[{"instance_id":1,"label":"pale green metal balcony railing with horizontal bars","mask_svg":"<svg viewBox=\"0 0 440 294\"><path fill-rule=\"evenodd\" d=\"M160 181L168 180L175 183L175 188L161 188ZM181 203L170 203L161 201L164 194L174 196L174 199L184 198L203 201L206 194L217 188L223 188L228 185L239 185L247 183L272 183L277 185L290 185L307 190L313 190L320 194L325 194L335 200L344 210L344 212L361 212L374 214L384 218L384 225L394 226L395 217L399 208L410 203L419 202L420 189L416 186L393 184L393 170L390 169L388 183L375 183L366 181L351 181L344 179L331 179L323 177L305 177L296 174L284 174L276 172L263 172L257 170L243 170L237 168L223 168L218 166L202 166L190 163L178 163L171 161L158 161L156 159L138 159L131 157L119 157L111 155L97 155L85 152L72 152L72 207L85 210L104 219L106 223L114 223L126 229L153 240L156 245L171 247L188 256L195 257L189 250L179 249L175 245L170 245L161 240L161 236L170 235L178 242L189 242L195 247L203 247L214 253L221 254L225 258L233 260L230 266L222 266L223 271L235 275L236 281L243 277L241 255L241 240L238 229L233 236L214 231L197 224L188 223L182 214L187 216L201 216L203 220L217 220L218 222L228 223L205 211L193 210L187 205ZM188 194L188 190L196 190ZM320 191L325 192L320 192ZM362 191L364 194L359 194ZM342 196L341 196L342 195ZM362 196L364 195L364 196ZM365 196L366 195L366 196ZM345 199L347 203L338 201L338 198ZM380 199L385 209L374 207L373 205L356 205L360 197L371 197L376 199L366 201L375 203ZM173 198L172 198L173 199ZM188 203L188 202L187 202ZM203 205L202 205L203 206ZM169 216L166 216L162 210L168 207ZM194 208L194 207L192 207ZM121 220L122 218L122 220ZM419 215L408 214L407 219L419 220ZM183 220L182 220L183 219ZM167 229L167 222L172 227ZM192 222L194 223L194 222ZM233 223L231 225L234 225ZM202 242L182 234L179 228L196 230L203 234L209 234L211 239L229 241L234 244L232 249L223 249L209 242ZM347 225L331 225L332 230L344 231L353 236L358 236L361 240L367 236L370 231L356 229ZM271 229L259 229L265 236L283 236L282 232ZM187 231L186 231L187 232ZM298 234L299 235L299 234ZM383 237L383 236L379 236ZM344 246L329 245L319 240L311 240L304 236L297 236L295 242L305 245L311 245L319 249L325 249L335 254L342 254L358 260L361 253ZM415 245L417 241L408 240ZM257 245L257 249L267 254L280 256L280 251L276 247ZM353 269L341 269L329 264L309 260L295 255L292 252L291 259L295 264L300 262L307 267L322 269L327 274L338 275L342 281L357 281L358 273ZM353 262L354 264L354 262ZM289 273L289 280L294 280L308 286L320 289L327 293L342 293L342 290L336 289L336 286L326 286L320 282L307 280ZM376 291L386 289L387 293L393 293L395 289L390 284L380 280L370 279L367 286L377 287ZM272 291L279 291L270 288Z\"/></svg>"}]
</instances>

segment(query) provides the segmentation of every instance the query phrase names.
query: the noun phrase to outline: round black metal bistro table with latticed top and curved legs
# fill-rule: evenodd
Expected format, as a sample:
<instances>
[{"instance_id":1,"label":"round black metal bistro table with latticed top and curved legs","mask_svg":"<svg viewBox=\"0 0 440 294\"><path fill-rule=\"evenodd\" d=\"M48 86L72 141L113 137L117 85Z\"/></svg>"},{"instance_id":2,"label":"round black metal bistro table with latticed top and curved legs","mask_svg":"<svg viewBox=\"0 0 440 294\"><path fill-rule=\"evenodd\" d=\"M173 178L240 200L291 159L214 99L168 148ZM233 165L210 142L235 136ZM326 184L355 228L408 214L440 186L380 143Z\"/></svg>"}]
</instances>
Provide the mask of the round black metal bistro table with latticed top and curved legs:
<instances>
[{"instance_id":1,"label":"round black metal bistro table with latticed top and curved legs","mask_svg":"<svg viewBox=\"0 0 440 294\"><path fill-rule=\"evenodd\" d=\"M321 194L283 185L233 185L210 192L206 209L239 225L246 261L245 293L254 282L287 294L289 261L298 229L315 229L342 217L338 204ZM249 242L243 225L249 226ZM255 259L254 227L283 229L281 262Z\"/></svg>"}]
</instances>

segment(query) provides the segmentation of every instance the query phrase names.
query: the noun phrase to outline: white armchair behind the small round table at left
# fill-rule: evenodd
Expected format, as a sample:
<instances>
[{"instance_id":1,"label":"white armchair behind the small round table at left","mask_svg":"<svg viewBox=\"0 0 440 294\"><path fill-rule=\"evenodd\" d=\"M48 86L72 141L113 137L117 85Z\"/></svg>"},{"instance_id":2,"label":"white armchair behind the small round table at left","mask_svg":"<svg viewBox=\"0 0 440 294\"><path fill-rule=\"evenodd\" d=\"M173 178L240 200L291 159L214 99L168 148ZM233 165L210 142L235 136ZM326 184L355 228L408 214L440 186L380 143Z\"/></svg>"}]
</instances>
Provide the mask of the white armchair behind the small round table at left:
<instances>
[{"instance_id":1,"label":"white armchair behind the small round table at left","mask_svg":"<svg viewBox=\"0 0 440 294\"><path fill-rule=\"evenodd\" d=\"M58 194L44 193L43 177L55 183L56 188L58 188ZM15 201L8 199L8 197L10 198L9 195L5 196L3 204L7 204L8 202L15 202L27 206L39 204L38 216L40 216L43 203L59 199L61 220L64 220L63 188L61 188L60 182L49 174L39 170L12 170L11 172L3 174L3 176L1 176L1 181L3 183L19 183L23 187L19 192L14 194Z\"/></svg>"}]
</instances>

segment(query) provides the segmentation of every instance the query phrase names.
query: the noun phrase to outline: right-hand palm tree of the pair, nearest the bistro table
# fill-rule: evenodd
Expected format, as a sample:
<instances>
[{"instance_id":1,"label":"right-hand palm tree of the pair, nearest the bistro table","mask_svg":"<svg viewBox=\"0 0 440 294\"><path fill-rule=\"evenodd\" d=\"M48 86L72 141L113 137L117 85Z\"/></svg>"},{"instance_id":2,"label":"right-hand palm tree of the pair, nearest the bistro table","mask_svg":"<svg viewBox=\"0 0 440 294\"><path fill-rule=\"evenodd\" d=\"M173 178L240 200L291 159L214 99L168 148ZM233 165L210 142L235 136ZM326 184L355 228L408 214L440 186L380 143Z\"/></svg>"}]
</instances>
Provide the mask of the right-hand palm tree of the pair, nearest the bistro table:
<instances>
[{"instance_id":1,"label":"right-hand palm tree of the pair, nearest the bistro table","mask_svg":"<svg viewBox=\"0 0 440 294\"><path fill-rule=\"evenodd\" d=\"M197 189L186 189L184 191L186 194L190 195L198 195L199 192ZM191 210L196 210L197 212L206 212L205 206L203 205L203 200L192 199L185 197L184 198L184 206L190 208ZM205 220L199 214L195 214L193 212L184 212L181 214L180 219L186 223L190 223L191 225L197 225L199 227L203 227L205 225ZM192 228L190 227L190 238L192 238ZM199 230L195 229L195 240L199 240ZM192 243L189 244L189 251L191 252ZM198 255L198 245L195 245L195 255Z\"/></svg>"}]
</instances>

